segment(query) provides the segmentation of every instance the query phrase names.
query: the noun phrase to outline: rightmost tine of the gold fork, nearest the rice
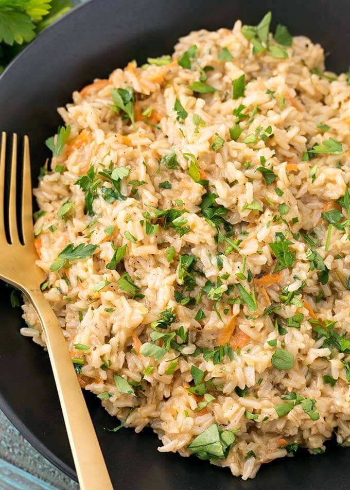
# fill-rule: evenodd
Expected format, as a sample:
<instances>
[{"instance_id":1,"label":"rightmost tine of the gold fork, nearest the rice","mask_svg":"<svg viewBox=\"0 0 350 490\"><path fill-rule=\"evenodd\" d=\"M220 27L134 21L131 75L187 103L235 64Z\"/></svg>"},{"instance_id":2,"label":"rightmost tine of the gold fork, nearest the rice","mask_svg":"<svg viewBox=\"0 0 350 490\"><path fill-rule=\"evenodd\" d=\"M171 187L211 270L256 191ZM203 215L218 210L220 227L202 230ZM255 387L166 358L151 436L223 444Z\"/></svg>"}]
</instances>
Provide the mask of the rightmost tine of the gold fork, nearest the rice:
<instances>
[{"instance_id":1,"label":"rightmost tine of the gold fork, nearest the rice","mask_svg":"<svg viewBox=\"0 0 350 490\"><path fill-rule=\"evenodd\" d=\"M30 155L28 136L23 138L22 169L22 233L24 243L33 240L33 218L31 205Z\"/></svg>"}]
</instances>

